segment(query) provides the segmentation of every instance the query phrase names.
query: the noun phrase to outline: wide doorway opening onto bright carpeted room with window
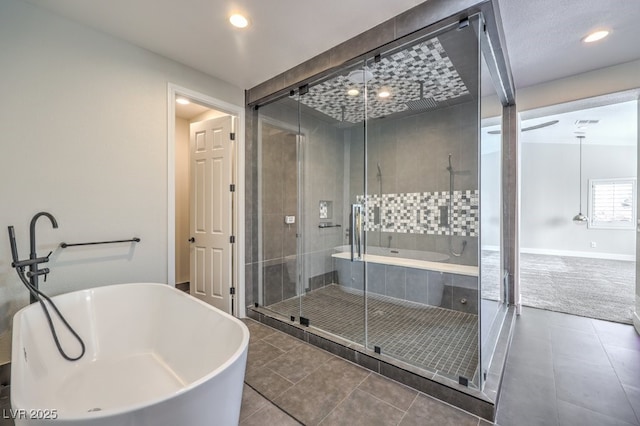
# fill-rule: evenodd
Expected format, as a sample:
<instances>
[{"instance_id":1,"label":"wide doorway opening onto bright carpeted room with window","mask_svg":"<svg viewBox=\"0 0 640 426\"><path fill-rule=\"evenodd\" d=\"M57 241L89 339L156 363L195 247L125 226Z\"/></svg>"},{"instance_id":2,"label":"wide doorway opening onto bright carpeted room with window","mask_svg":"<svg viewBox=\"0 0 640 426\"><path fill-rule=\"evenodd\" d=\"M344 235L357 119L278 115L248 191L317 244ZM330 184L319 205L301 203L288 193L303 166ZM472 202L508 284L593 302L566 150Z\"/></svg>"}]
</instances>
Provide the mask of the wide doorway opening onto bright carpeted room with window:
<instances>
[{"instance_id":1,"label":"wide doorway opening onto bright carpeted room with window","mask_svg":"<svg viewBox=\"0 0 640 426\"><path fill-rule=\"evenodd\" d=\"M637 96L586 99L521 118L522 304L631 324Z\"/></svg>"}]
</instances>

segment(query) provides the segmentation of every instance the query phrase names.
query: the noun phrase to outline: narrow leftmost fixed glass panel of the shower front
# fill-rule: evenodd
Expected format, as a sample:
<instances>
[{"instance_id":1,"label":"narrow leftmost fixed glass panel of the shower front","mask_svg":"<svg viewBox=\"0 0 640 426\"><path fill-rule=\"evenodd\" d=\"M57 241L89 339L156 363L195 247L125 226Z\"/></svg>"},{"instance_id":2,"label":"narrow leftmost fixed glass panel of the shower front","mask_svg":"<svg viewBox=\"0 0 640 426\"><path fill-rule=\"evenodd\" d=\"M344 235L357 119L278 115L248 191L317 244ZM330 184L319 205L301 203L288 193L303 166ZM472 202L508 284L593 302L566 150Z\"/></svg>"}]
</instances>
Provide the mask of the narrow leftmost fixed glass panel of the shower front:
<instances>
[{"instance_id":1,"label":"narrow leftmost fixed glass panel of the shower front","mask_svg":"<svg viewBox=\"0 0 640 426\"><path fill-rule=\"evenodd\" d=\"M285 318L298 318L303 294L298 109L297 95L285 97L261 107L258 120L258 303Z\"/></svg>"}]
</instances>

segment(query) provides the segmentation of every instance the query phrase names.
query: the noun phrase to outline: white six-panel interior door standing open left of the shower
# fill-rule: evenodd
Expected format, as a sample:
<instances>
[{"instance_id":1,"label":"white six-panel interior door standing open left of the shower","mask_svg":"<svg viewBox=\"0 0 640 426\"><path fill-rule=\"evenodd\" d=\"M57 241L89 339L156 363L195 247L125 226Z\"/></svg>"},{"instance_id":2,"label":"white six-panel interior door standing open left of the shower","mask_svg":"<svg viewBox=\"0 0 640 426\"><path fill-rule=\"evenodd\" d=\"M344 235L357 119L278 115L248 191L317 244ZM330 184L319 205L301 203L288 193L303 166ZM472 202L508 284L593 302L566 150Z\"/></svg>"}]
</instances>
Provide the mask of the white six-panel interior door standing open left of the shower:
<instances>
[{"instance_id":1,"label":"white six-panel interior door standing open left of the shower","mask_svg":"<svg viewBox=\"0 0 640 426\"><path fill-rule=\"evenodd\" d=\"M190 292L216 308L232 309L232 117L192 123L190 129Z\"/></svg>"}]
</instances>

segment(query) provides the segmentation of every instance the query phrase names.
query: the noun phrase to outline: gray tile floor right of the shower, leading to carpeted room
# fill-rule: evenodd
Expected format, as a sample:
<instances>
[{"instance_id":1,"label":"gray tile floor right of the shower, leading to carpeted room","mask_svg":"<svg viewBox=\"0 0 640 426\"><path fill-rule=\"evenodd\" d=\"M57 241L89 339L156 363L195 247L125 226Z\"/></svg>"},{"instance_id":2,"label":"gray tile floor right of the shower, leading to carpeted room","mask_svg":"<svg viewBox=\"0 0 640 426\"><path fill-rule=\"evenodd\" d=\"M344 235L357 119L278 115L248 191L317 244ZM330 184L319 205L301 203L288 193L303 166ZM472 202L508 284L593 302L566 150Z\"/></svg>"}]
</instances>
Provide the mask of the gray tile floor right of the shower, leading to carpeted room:
<instances>
[{"instance_id":1,"label":"gray tile floor right of the shower, leading to carpeted room","mask_svg":"<svg viewBox=\"0 0 640 426\"><path fill-rule=\"evenodd\" d=\"M640 336L631 325L525 307L502 386L501 426L640 425Z\"/></svg>"}]
</instances>

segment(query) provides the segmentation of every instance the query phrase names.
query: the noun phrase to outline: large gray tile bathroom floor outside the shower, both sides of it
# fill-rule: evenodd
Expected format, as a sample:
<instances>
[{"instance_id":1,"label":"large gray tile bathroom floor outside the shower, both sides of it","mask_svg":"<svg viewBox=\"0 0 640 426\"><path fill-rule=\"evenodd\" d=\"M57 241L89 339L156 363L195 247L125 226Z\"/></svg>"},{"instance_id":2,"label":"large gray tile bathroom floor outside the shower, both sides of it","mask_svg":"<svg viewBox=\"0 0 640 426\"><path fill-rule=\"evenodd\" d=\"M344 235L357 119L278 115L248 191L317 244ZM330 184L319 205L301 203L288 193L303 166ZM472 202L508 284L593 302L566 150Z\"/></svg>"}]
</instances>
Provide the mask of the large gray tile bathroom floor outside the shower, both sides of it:
<instances>
[{"instance_id":1,"label":"large gray tile bathroom floor outside the shower, both sides of it","mask_svg":"<svg viewBox=\"0 0 640 426\"><path fill-rule=\"evenodd\" d=\"M249 388L245 397L260 401L264 419L281 419L261 424L490 424L246 321L252 341L245 380L264 396ZM372 390L380 388L386 390ZM243 404L241 424L253 424L247 407L256 403ZM516 319L496 424L640 425L640 336L630 325L524 307Z\"/></svg>"}]
</instances>

